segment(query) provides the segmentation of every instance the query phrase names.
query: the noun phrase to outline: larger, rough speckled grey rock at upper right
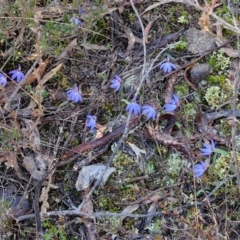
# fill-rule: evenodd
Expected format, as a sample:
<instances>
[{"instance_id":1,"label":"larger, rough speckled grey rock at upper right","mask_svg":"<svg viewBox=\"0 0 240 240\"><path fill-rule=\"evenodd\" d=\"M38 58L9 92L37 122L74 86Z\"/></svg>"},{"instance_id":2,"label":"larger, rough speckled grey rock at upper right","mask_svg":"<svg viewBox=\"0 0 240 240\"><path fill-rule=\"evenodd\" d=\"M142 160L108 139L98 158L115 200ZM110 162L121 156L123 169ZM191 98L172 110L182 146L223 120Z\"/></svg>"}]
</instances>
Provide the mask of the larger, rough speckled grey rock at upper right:
<instances>
[{"instance_id":1,"label":"larger, rough speckled grey rock at upper right","mask_svg":"<svg viewBox=\"0 0 240 240\"><path fill-rule=\"evenodd\" d=\"M189 28L185 34L188 41L188 51L193 54L202 55L217 47L214 36L206 31Z\"/></svg>"}]
</instances>

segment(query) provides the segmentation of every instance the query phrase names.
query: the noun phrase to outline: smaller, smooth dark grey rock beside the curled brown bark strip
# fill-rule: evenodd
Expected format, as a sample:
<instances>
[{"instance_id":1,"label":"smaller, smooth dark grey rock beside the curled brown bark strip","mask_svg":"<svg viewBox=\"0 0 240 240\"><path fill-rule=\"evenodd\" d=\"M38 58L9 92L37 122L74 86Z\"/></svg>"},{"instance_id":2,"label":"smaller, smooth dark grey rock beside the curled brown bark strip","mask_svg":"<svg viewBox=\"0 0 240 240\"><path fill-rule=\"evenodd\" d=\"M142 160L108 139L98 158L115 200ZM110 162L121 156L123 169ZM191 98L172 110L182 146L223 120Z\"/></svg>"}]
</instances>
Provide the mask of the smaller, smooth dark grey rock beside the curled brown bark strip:
<instances>
[{"instance_id":1,"label":"smaller, smooth dark grey rock beside the curled brown bark strip","mask_svg":"<svg viewBox=\"0 0 240 240\"><path fill-rule=\"evenodd\" d=\"M193 81L200 81L212 72L212 66L208 63L199 63L190 70Z\"/></svg>"}]
</instances>

